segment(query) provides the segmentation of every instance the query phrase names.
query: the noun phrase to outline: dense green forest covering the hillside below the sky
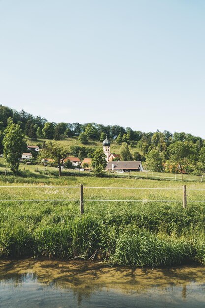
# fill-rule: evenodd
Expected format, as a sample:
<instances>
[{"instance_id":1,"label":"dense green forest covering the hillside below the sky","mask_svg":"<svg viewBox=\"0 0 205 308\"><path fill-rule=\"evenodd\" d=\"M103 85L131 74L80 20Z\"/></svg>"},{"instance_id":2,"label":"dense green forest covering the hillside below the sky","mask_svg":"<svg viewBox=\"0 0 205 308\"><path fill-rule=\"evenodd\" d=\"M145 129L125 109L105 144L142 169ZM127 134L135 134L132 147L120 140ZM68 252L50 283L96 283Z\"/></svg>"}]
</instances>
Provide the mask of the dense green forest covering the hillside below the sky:
<instances>
[{"instance_id":1,"label":"dense green forest covering the hillside below the sky","mask_svg":"<svg viewBox=\"0 0 205 308\"><path fill-rule=\"evenodd\" d=\"M63 136L76 136L83 144L89 140L103 141L107 138L119 145L126 143L136 148L134 155L126 153L124 159L142 160L144 167L152 171L187 172L202 174L205 172L205 141L185 132L142 132L130 127L119 125L102 125L96 123L66 123L48 122L46 118L34 117L24 110L18 112L0 105L0 152L2 152L2 139L8 119L11 117L15 124L19 124L22 131L30 138L60 140ZM71 154L75 156L91 156L91 147L74 146ZM120 153L121 154L121 153ZM121 154L122 157L122 154Z\"/></svg>"}]
</instances>

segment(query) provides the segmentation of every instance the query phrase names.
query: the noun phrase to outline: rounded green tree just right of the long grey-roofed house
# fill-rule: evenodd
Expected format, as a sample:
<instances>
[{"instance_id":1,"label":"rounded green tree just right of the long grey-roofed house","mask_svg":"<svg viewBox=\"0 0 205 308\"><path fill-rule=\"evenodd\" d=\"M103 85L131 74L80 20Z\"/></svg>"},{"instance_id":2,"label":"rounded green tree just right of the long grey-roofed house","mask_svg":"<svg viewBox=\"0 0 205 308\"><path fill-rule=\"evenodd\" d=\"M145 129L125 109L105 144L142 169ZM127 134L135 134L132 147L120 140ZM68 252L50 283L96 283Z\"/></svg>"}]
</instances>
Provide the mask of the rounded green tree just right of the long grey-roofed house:
<instances>
[{"instance_id":1,"label":"rounded green tree just right of the long grey-roofed house","mask_svg":"<svg viewBox=\"0 0 205 308\"><path fill-rule=\"evenodd\" d=\"M162 172L163 168L163 155L158 149L153 149L147 154L146 166L148 170L154 172Z\"/></svg>"}]
</instances>

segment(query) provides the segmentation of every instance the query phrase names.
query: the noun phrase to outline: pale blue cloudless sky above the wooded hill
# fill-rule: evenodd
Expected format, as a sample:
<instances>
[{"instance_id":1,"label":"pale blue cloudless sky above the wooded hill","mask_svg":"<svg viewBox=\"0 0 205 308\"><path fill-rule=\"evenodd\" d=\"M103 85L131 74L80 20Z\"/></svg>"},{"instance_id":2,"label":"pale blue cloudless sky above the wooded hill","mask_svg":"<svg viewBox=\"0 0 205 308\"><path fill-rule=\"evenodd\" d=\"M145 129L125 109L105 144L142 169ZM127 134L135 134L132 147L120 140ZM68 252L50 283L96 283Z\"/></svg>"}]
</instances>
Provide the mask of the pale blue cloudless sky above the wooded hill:
<instances>
[{"instance_id":1,"label":"pale blue cloudless sky above the wooded hill","mask_svg":"<svg viewBox=\"0 0 205 308\"><path fill-rule=\"evenodd\" d=\"M0 0L0 104L205 138L205 1Z\"/></svg>"}]
</instances>

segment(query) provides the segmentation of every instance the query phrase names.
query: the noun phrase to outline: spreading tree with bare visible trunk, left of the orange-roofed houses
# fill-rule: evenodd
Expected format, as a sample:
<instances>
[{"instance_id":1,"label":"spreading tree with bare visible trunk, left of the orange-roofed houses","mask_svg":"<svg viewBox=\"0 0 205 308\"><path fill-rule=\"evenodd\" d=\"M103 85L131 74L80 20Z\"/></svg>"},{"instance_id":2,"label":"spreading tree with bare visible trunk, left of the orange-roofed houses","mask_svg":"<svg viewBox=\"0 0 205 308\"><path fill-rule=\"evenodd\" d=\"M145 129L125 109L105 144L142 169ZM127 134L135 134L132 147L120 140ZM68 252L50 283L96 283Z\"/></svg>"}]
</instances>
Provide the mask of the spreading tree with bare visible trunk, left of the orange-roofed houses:
<instances>
[{"instance_id":1,"label":"spreading tree with bare visible trunk, left of the orange-roofed houses","mask_svg":"<svg viewBox=\"0 0 205 308\"><path fill-rule=\"evenodd\" d=\"M52 165L59 169L59 176L62 175L63 161L67 158L69 150L57 141L46 143L46 147L41 150L40 158L50 158Z\"/></svg>"}]
</instances>

